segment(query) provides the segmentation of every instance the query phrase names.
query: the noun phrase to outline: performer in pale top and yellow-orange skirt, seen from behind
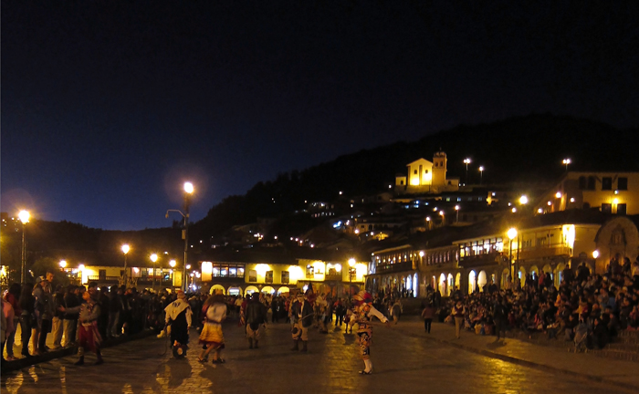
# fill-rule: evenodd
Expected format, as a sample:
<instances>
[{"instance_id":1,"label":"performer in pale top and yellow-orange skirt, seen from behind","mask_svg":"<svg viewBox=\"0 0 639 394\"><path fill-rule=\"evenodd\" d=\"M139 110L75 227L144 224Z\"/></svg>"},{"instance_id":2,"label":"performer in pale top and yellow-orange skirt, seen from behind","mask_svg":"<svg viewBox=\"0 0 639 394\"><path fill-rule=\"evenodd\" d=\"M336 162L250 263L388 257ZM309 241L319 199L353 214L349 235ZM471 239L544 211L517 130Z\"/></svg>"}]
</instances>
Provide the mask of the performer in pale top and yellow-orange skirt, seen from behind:
<instances>
[{"instance_id":1,"label":"performer in pale top and yellow-orange skirt, seen from behind","mask_svg":"<svg viewBox=\"0 0 639 394\"><path fill-rule=\"evenodd\" d=\"M200 334L200 343L204 345L204 348L197 360L202 363L206 362L208 354L213 350L215 355L212 362L223 364L225 359L220 357L220 352L225 348L224 334L222 333L222 322L226 318L224 296L216 293L215 296L208 297L204 302L204 307L206 307L206 317L204 328Z\"/></svg>"}]
</instances>

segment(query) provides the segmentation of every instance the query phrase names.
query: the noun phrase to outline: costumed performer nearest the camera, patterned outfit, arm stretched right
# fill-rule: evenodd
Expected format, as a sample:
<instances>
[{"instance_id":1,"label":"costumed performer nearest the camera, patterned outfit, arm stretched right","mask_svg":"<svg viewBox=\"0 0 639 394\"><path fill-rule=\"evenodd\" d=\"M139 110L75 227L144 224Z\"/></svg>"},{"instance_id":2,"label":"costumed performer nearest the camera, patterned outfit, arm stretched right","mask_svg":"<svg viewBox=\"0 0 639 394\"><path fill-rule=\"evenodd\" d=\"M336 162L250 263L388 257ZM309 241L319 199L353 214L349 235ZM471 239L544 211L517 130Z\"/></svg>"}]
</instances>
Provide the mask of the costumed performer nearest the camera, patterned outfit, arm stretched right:
<instances>
[{"instance_id":1,"label":"costumed performer nearest the camera, patterned outfit, arm stretched right","mask_svg":"<svg viewBox=\"0 0 639 394\"><path fill-rule=\"evenodd\" d=\"M375 316L382 323L390 324L386 316L382 312L372 306L372 297L370 294L361 291L353 296L353 315L349 319L349 325L352 327L355 323L359 325L357 337L360 342L360 356L364 360L364 369L360 371L361 375L372 374L371 361L371 341L372 341L372 317ZM351 328L352 329L352 328Z\"/></svg>"}]
</instances>

